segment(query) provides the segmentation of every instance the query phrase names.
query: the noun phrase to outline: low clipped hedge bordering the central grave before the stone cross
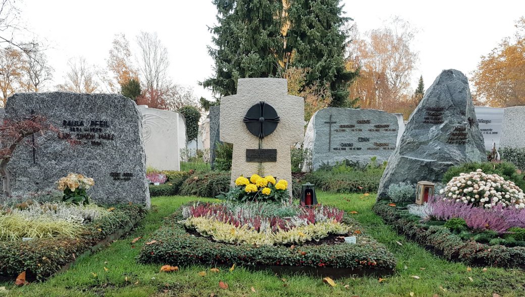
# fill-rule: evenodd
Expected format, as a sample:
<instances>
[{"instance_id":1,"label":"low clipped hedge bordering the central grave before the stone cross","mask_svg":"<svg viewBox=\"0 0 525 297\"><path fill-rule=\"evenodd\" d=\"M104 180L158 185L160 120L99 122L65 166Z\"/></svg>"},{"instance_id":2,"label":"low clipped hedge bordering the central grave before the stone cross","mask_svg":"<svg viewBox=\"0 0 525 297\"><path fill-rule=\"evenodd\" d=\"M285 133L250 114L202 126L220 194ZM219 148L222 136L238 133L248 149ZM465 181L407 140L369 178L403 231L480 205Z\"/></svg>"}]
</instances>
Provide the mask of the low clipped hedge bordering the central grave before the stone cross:
<instances>
[{"instance_id":1,"label":"low clipped hedge bordering the central grave before the stone cross","mask_svg":"<svg viewBox=\"0 0 525 297\"><path fill-rule=\"evenodd\" d=\"M231 245L215 242L207 237L188 234L179 221L183 220L182 208L164 220L159 230L155 231L144 245L139 255L141 263L170 264L189 266L203 264L207 266L246 266L255 269L288 268L308 272L317 269L323 275L323 268L335 268L350 274L390 274L394 271L396 260L386 247L364 234L356 234L357 243L339 243L334 245L299 245L295 248L286 246L250 246ZM361 227L344 216L345 224L356 230ZM298 269L304 268L304 269ZM333 269L326 269L330 275Z\"/></svg>"}]
</instances>

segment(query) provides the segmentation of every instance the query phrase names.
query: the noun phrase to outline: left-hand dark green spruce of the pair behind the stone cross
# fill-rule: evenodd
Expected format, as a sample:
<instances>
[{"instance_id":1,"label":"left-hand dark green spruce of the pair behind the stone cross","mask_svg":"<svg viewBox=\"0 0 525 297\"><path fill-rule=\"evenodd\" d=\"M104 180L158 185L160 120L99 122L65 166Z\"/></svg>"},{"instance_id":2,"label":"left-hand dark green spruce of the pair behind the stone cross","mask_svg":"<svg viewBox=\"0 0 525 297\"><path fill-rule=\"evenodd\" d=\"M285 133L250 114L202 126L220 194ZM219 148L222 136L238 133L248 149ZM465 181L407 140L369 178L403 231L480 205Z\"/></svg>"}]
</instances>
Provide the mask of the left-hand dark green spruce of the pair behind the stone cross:
<instances>
[{"instance_id":1,"label":"left-hand dark green spruce of the pair behind the stone cross","mask_svg":"<svg viewBox=\"0 0 525 297\"><path fill-rule=\"evenodd\" d=\"M237 79L275 77L282 55L282 0L214 0L218 25L209 28L215 75L202 82L214 96L237 91Z\"/></svg>"}]
</instances>

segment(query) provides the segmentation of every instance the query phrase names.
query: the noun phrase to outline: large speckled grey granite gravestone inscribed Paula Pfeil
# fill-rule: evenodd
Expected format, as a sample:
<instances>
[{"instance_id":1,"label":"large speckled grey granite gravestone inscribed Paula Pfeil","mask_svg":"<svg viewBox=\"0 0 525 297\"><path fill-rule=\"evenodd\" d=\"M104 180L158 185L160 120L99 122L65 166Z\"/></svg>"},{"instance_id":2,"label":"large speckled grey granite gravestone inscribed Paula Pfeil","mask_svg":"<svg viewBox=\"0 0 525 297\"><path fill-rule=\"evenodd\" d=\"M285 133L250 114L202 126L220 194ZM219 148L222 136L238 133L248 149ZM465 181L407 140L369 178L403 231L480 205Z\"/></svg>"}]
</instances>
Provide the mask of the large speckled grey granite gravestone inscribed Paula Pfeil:
<instances>
[{"instance_id":1,"label":"large speckled grey granite gravestone inscribed Paula Pfeil","mask_svg":"<svg viewBox=\"0 0 525 297\"><path fill-rule=\"evenodd\" d=\"M35 154L30 146L17 147L7 166L14 195L54 189L60 177L80 173L95 179L88 195L99 204L150 206L141 115L132 100L118 94L19 93L7 100L5 116L18 119L33 111L62 134L36 135Z\"/></svg>"}]
</instances>

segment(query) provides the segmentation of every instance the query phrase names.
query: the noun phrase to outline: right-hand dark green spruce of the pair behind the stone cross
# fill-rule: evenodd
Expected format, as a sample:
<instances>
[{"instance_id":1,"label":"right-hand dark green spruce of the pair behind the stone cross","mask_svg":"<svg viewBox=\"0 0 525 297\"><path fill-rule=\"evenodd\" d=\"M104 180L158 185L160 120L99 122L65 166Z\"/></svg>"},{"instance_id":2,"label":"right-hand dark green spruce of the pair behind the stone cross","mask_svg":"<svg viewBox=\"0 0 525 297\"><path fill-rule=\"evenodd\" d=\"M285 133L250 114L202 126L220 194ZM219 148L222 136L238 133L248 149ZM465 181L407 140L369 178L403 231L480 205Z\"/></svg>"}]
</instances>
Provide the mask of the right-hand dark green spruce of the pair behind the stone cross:
<instances>
[{"instance_id":1,"label":"right-hand dark green spruce of the pair behind the stone cross","mask_svg":"<svg viewBox=\"0 0 525 297\"><path fill-rule=\"evenodd\" d=\"M290 0L286 50L291 66L310 68L307 85L315 81L328 83L332 107L352 107L349 85L357 76L346 70L344 50L348 36L344 25L351 18L343 16L341 0Z\"/></svg>"}]
</instances>

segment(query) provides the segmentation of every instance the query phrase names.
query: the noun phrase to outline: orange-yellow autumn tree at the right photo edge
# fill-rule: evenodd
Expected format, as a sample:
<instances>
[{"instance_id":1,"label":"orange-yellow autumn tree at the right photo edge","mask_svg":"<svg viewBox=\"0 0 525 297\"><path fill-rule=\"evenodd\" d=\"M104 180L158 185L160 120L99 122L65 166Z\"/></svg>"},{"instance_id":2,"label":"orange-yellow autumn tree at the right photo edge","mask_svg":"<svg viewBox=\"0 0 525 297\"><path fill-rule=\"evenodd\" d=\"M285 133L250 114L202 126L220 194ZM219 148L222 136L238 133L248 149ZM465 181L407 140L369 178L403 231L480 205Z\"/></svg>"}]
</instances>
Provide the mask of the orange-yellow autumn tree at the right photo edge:
<instances>
[{"instance_id":1,"label":"orange-yellow autumn tree at the right photo edge","mask_svg":"<svg viewBox=\"0 0 525 297\"><path fill-rule=\"evenodd\" d=\"M504 38L474 71L472 93L476 105L525 105L525 17L516 22L516 34Z\"/></svg>"}]
</instances>

